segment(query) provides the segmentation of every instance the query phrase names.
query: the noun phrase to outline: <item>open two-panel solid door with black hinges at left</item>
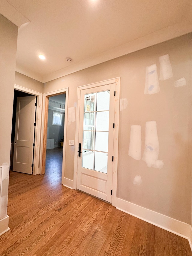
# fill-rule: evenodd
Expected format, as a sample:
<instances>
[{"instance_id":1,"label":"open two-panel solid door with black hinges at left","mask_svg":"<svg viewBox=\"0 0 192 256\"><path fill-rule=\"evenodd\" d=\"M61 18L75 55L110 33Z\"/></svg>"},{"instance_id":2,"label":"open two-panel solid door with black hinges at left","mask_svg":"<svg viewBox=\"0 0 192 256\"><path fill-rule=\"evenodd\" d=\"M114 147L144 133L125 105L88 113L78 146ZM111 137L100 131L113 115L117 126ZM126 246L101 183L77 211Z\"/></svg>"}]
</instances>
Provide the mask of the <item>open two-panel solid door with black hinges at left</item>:
<instances>
[{"instance_id":1,"label":"open two-panel solid door with black hinges at left","mask_svg":"<svg viewBox=\"0 0 192 256\"><path fill-rule=\"evenodd\" d=\"M13 171L32 174L36 96L18 97Z\"/></svg>"}]
</instances>

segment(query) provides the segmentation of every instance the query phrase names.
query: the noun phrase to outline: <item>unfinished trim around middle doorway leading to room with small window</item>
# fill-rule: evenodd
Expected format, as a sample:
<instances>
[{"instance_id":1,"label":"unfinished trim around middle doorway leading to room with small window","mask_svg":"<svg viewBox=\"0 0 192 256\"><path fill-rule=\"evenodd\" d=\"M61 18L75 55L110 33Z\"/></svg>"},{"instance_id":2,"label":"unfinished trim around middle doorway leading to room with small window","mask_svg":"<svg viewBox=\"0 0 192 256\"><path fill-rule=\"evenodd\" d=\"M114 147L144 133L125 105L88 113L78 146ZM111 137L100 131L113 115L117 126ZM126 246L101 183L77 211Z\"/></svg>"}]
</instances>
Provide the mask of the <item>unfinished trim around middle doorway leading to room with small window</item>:
<instances>
[{"instance_id":1,"label":"unfinished trim around middle doorway leading to room with small window","mask_svg":"<svg viewBox=\"0 0 192 256\"><path fill-rule=\"evenodd\" d=\"M42 129L41 129L41 153L40 153L40 174L45 173L45 160L46 160L46 139L47 139L47 119L48 119L48 107L49 97L65 93L65 117L64 117L64 140L63 140L63 161L62 161L62 178L61 183L64 184L65 175L65 158L66 158L66 143L67 143L67 110L68 110L68 91L69 88L63 88L52 92L46 92L43 94L43 111L42 111Z\"/></svg>"}]
</instances>

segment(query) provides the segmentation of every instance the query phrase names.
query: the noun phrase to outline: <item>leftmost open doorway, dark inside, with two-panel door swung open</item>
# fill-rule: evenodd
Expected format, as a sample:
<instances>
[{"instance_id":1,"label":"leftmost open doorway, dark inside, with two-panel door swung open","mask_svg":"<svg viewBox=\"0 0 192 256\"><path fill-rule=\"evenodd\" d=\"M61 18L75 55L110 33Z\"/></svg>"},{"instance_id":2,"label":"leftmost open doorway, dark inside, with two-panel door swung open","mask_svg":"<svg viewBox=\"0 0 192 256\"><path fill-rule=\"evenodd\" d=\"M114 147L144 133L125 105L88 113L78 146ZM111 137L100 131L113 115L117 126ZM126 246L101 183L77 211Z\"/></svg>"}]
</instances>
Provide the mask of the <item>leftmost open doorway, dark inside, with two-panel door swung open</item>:
<instances>
[{"instance_id":1,"label":"leftmost open doorway, dark inside, with two-panel door swung open","mask_svg":"<svg viewBox=\"0 0 192 256\"><path fill-rule=\"evenodd\" d=\"M36 102L37 96L14 90L10 170L32 174Z\"/></svg>"}]
</instances>

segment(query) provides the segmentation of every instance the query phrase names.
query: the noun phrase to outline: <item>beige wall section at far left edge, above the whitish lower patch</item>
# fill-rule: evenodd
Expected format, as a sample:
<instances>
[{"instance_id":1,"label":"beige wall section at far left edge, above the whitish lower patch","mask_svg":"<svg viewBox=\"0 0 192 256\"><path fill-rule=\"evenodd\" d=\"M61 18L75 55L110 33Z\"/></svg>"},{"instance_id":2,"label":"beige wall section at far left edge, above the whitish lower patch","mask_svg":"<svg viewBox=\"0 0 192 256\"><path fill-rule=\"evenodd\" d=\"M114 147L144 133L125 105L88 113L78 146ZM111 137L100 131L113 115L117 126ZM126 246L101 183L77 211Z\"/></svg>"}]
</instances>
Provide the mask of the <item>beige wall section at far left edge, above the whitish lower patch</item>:
<instances>
[{"instance_id":1,"label":"beige wall section at far left edge, above the whitish lower patch","mask_svg":"<svg viewBox=\"0 0 192 256\"><path fill-rule=\"evenodd\" d=\"M10 160L10 136L16 66L17 27L2 15L0 15L0 25L1 166L3 162L9 162Z\"/></svg>"}]
</instances>

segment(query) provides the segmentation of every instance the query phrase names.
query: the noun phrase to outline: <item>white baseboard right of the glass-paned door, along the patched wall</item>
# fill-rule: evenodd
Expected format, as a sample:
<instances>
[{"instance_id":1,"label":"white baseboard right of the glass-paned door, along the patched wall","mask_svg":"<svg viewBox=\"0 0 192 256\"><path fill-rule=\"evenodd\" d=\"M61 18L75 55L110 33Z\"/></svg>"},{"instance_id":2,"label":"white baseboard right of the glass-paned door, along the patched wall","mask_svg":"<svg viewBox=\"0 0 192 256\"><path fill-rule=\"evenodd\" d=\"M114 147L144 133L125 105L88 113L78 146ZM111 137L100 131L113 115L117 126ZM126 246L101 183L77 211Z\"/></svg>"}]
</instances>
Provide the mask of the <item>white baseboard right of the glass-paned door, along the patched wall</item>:
<instances>
[{"instance_id":1,"label":"white baseboard right of the glass-paned door, along the patched wall","mask_svg":"<svg viewBox=\"0 0 192 256\"><path fill-rule=\"evenodd\" d=\"M143 221L149 222L157 227L161 227L167 231L170 231L178 236L186 238L189 240L190 248L192 251L192 228L191 225L178 221L176 219L170 218L158 212L146 209L142 206L130 203L123 199L116 199L116 208L133 215Z\"/></svg>"}]
</instances>

